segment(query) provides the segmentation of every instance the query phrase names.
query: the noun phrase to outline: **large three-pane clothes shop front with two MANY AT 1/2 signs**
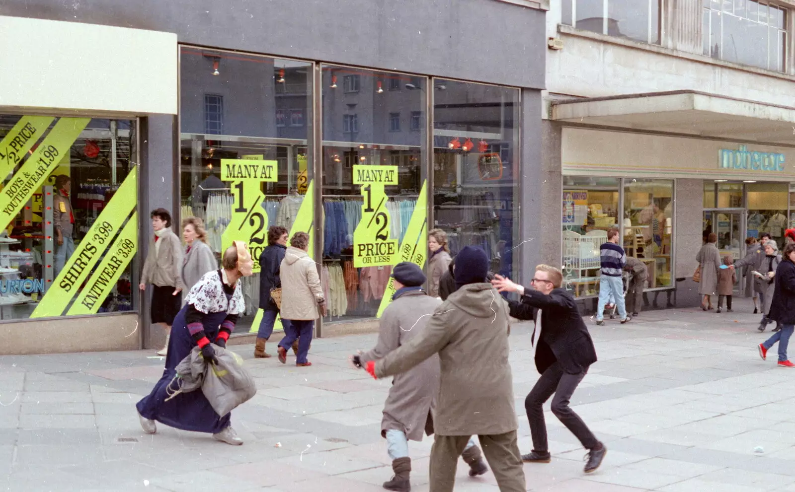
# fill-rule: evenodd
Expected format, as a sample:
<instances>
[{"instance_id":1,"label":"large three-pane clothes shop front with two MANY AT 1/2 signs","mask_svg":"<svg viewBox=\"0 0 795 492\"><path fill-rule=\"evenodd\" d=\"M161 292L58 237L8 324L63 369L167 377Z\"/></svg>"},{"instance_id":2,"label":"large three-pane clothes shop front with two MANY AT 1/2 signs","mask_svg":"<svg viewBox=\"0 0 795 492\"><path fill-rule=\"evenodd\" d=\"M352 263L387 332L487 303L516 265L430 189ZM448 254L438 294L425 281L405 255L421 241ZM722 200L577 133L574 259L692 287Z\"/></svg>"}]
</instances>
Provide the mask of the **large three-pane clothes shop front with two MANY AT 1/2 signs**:
<instances>
[{"instance_id":1,"label":"large three-pane clothes shop front with two MANY AT 1/2 signs","mask_svg":"<svg viewBox=\"0 0 795 492\"><path fill-rule=\"evenodd\" d=\"M325 322L380 316L392 266L425 267L433 228L447 233L452 255L482 246L494 272L516 277L518 89L329 64L315 71L180 49L180 215L204 220L216 258L235 239L258 258L273 225L313 238L322 224L309 254L321 265ZM243 281L237 332L258 328L258 277Z\"/></svg>"}]
</instances>

